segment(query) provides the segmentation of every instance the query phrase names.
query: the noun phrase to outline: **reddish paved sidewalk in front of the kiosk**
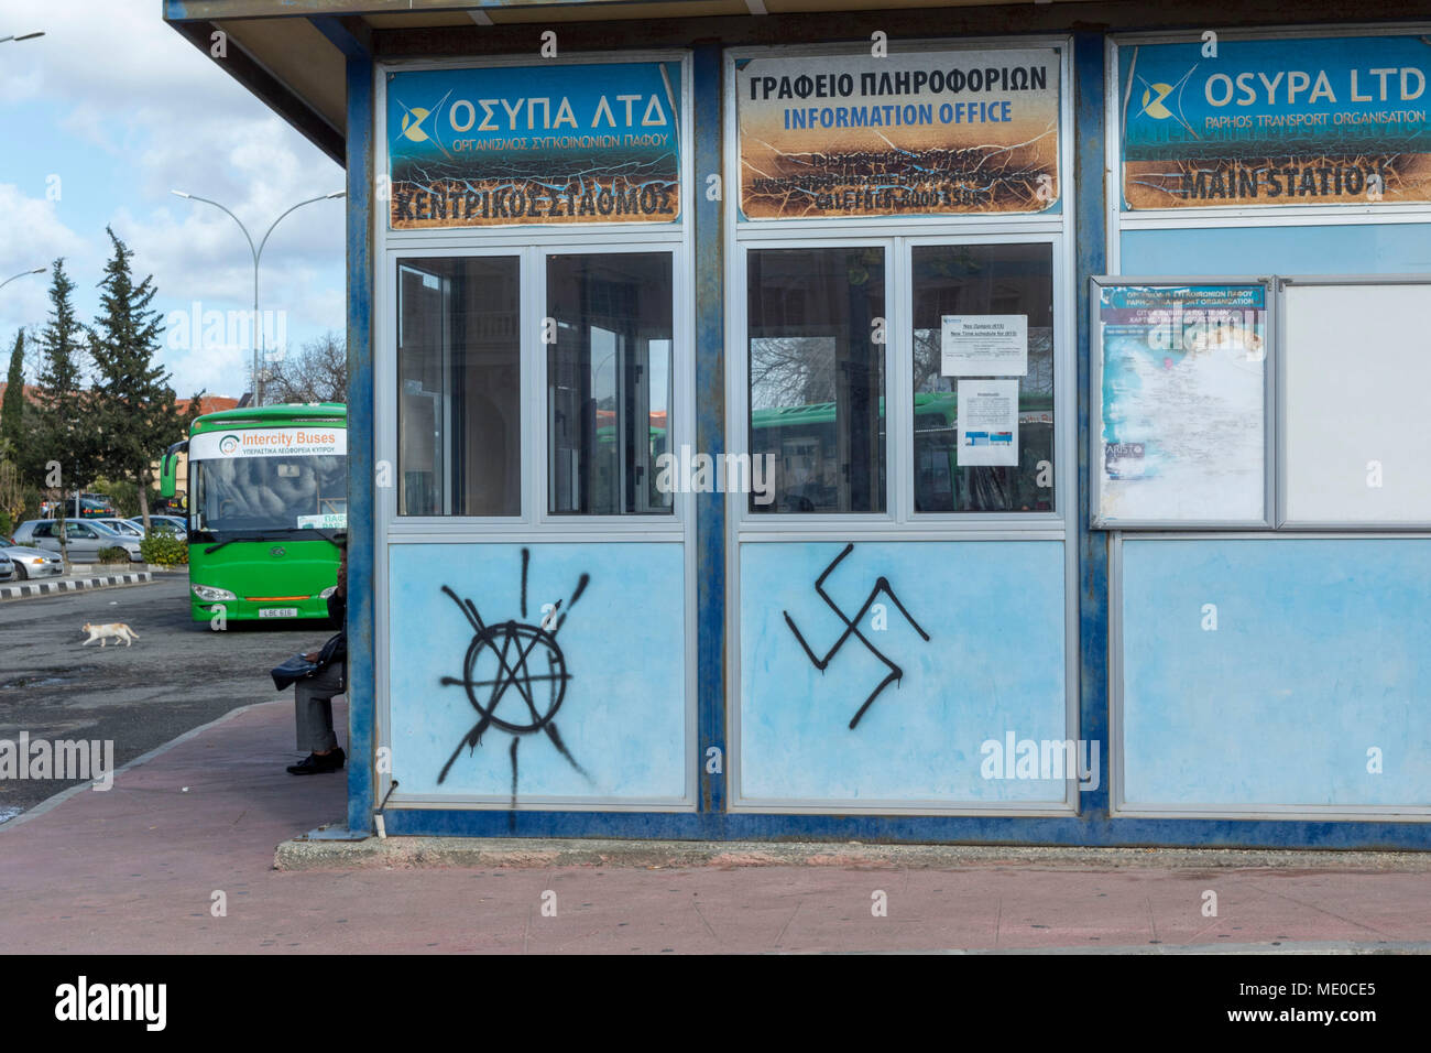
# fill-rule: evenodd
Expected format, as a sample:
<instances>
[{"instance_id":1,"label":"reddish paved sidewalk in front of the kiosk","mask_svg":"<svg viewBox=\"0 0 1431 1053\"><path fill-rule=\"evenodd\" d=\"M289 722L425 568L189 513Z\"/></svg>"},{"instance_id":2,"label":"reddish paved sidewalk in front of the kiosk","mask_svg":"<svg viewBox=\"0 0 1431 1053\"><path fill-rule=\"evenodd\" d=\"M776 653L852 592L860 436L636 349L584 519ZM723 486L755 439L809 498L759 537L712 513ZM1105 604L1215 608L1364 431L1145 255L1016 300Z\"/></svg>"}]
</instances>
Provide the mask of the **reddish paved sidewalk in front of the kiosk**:
<instances>
[{"instance_id":1,"label":"reddish paved sidewalk in front of the kiosk","mask_svg":"<svg viewBox=\"0 0 1431 1053\"><path fill-rule=\"evenodd\" d=\"M335 722L346 725L336 706ZM1424 868L972 864L949 870L273 870L345 814L342 775L295 778L292 702L239 711L0 827L10 953L747 953L1173 950L1431 941ZM183 789L187 787L187 792ZM887 917L871 895L887 895ZM1218 917L1203 917L1203 893ZM223 891L228 915L213 917ZM557 917L542 915L555 893ZM550 898L550 897L548 897Z\"/></svg>"}]
</instances>

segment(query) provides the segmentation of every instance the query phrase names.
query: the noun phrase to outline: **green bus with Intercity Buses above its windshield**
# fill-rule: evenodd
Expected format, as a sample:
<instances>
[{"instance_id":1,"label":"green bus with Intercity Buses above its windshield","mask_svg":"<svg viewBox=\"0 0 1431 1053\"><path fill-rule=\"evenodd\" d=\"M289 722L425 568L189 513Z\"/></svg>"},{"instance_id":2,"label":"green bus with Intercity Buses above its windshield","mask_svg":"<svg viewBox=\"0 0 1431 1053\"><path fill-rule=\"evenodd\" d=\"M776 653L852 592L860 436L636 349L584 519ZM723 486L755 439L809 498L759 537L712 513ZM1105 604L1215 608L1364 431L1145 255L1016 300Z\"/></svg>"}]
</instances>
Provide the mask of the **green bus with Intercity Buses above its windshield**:
<instances>
[{"instance_id":1,"label":"green bus with Intercity Buses above its windshield","mask_svg":"<svg viewBox=\"0 0 1431 1053\"><path fill-rule=\"evenodd\" d=\"M263 405L197 417L160 466L173 497L187 454L195 622L328 617L348 530L348 407Z\"/></svg>"}]
</instances>

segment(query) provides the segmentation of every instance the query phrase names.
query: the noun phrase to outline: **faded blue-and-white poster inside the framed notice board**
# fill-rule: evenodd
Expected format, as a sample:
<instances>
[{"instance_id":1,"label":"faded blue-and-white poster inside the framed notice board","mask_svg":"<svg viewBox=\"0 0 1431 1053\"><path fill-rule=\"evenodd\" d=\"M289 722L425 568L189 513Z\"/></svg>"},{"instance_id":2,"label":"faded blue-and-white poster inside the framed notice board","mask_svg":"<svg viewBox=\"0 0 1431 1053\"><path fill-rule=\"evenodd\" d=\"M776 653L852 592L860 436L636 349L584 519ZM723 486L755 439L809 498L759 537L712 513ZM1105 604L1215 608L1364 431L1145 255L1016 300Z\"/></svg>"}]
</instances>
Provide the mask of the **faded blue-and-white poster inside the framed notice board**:
<instances>
[{"instance_id":1,"label":"faded blue-and-white poster inside the framed notice board","mask_svg":"<svg viewBox=\"0 0 1431 1053\"><path fill-rule=\"evenodd\" d=\"M1095 521L1264 521L1266 288L1098 291Z\"/></svg>"}]
</instances>

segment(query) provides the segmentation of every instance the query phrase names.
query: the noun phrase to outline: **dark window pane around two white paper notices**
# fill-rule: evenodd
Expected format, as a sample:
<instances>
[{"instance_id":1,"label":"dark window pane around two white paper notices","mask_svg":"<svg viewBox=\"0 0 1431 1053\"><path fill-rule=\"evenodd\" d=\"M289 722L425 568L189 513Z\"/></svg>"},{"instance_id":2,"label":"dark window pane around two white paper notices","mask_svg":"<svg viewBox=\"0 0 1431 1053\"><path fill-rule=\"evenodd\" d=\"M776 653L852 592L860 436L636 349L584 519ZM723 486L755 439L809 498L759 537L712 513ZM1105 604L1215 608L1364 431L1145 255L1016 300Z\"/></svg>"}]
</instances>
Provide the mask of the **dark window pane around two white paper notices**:
<instances>
[{"instance_id":1,"label":"dark window pane around two white paper notices","mask_svg":"<svg viewBox=\"0 0 1431 1053\"><path fill-rule=\"evenodd\" d=\"M1053 248L919 245L914 295L914 510L1053 510ZM943 318L1023 315L1027 374L943 375ZM960 380L1016 380L1017 464L959 463Z\"/></svg>"}]
</instances>

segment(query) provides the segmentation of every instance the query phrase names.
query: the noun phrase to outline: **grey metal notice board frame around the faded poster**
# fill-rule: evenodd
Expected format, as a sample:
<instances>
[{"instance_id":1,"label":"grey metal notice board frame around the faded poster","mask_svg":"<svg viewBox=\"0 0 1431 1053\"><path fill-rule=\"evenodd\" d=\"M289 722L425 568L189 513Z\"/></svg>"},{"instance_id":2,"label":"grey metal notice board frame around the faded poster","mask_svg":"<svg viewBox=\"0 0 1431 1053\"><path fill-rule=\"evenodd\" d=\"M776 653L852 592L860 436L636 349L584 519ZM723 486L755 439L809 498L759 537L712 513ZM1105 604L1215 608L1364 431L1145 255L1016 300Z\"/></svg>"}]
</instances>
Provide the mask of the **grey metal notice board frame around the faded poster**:
<instances>
[{"instance_id":1,"label":"grey metal notice board frame around the faded poster","mask_svg":"<svg viewBox=\"0 0 1431 1053\"><path fill-rule=\"evenodd\" d=\"M1261 519L1113 519L1103 514L1103 332L1106 288L1261 285L1262 312L1262 517ZM1089 278L1089 529L1092 530L1272 530L1278 513L1276 278L1274 275L1092 275Z\"/></svg>"}]
</instances>

